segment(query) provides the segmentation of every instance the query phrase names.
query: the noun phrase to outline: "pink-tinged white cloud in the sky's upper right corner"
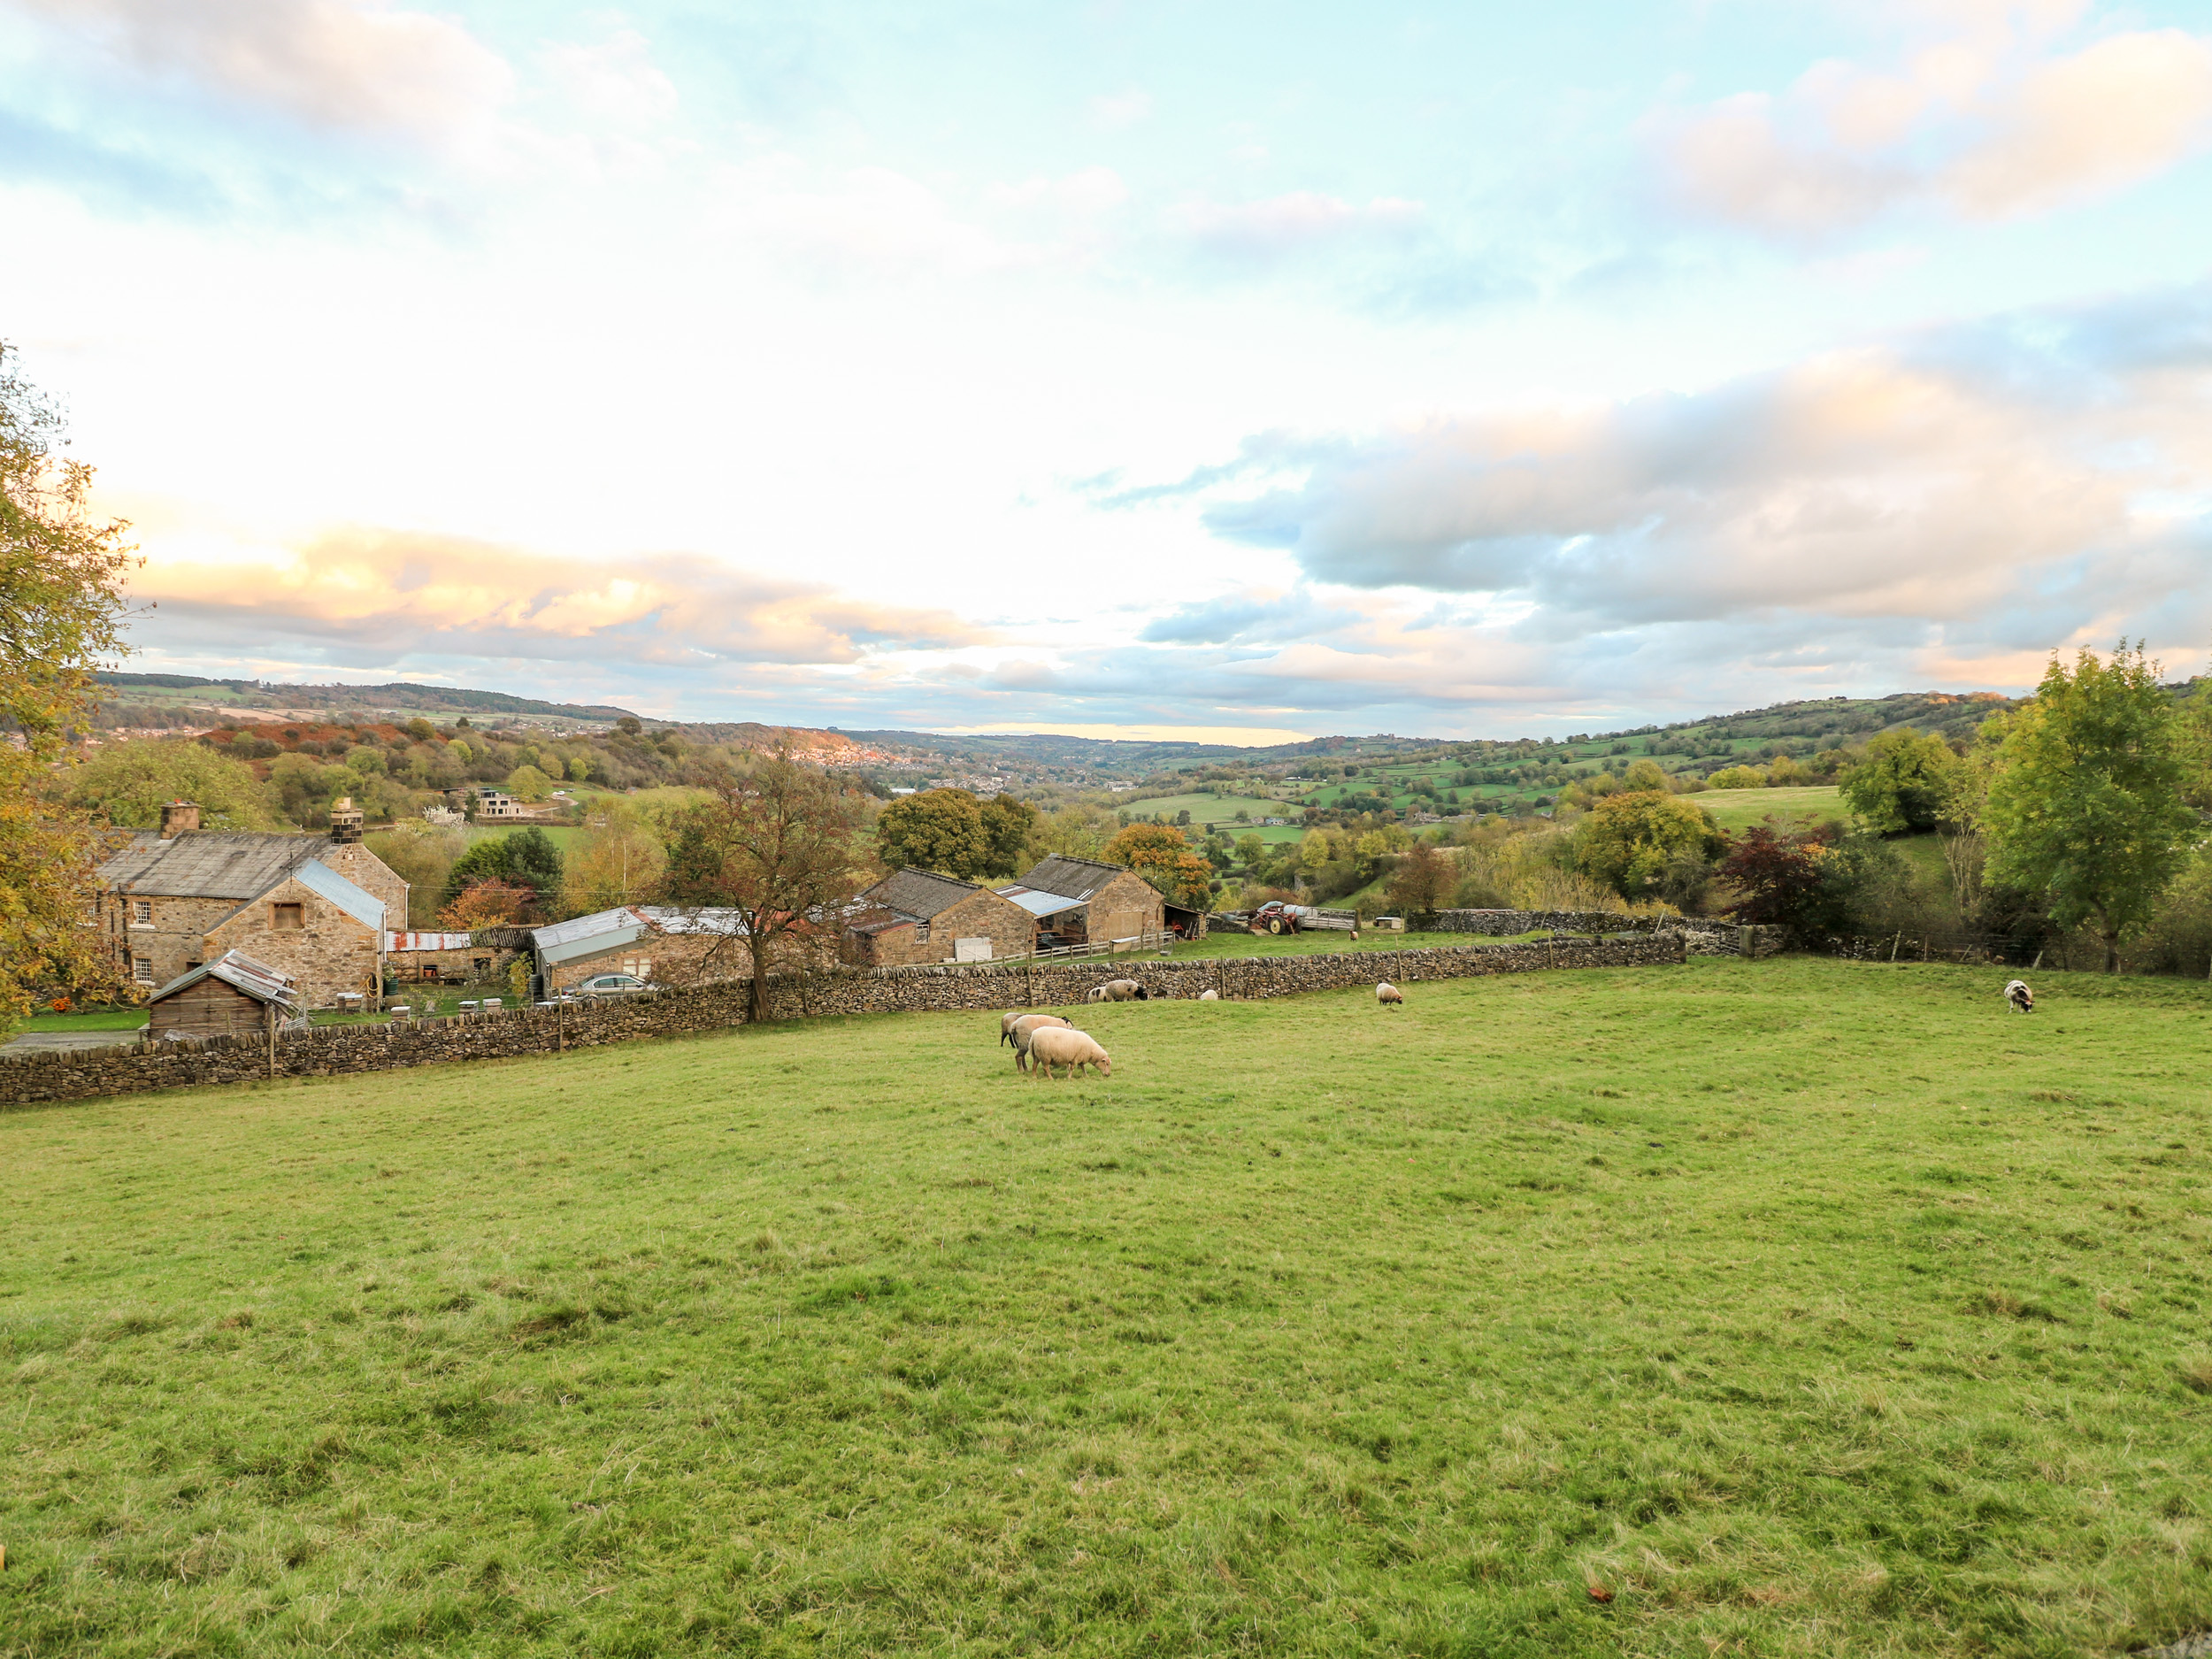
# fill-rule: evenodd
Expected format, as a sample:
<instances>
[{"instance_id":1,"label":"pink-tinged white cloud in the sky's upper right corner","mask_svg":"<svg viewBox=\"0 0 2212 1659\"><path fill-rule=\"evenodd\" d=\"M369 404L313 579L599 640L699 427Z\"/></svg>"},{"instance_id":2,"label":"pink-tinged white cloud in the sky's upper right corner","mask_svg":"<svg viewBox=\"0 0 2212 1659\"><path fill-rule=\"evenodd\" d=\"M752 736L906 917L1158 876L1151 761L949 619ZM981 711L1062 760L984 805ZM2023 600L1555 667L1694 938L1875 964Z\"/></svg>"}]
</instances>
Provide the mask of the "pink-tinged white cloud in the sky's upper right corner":
<instances>
[{"instance_id":1,"label":"pink-tinged white cloud in the sky's upper right corner","mask_svg":"<svg viewBox=\"0 0 2212 1659\"><path fill-rule=\"evenodd\" d=\"M2212 40L2179 29L2055 55L2077 7L1955 4L1887 69L1814 64L1657 122L1661 170L1694 212L1818 239L1902 206L2039 212L2152 177L2212 137Z\"/></svg>"}]
</instances>

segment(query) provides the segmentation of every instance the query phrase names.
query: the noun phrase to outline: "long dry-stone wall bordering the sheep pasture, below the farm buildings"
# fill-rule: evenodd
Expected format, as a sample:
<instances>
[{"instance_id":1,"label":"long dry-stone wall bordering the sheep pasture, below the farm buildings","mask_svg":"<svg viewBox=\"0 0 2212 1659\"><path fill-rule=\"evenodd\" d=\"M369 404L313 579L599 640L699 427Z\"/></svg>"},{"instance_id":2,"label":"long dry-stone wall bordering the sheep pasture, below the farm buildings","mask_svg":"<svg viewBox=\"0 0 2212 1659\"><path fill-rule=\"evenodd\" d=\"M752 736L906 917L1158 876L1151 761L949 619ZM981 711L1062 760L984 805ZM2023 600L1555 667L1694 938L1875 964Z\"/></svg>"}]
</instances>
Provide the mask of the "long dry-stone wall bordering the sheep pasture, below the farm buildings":
<instances>
[{"instance_id":1,"label":"long dry-stone wall bordering the sheep pasture, below the farm buildings","mask_svg":"<svg viewBox=\"0 0 2212 1659\"><path fill-rule=\"evenodd\" d=\"M1416 951L1329 956L1250 956L1201 962L967 962L958 967L841 969L770 980L776 1018L902 1013L945 1009L1079 1006L1104 980L1141 980L1155 998L1263 1000L1343 991L1391 980L1418 987L1489 973L1544 969L1648 967L1681 962L1681 933L1628 940L1535 940L1528 945L1447 945ZM591 1006L509 1009L447 1020L316 1026L299 1035L210 1037L60 1053L0 1055L0 1108L38 1106L157 1088L239 1084L259 1077L332 1077L356 1071L502 1060L608 1042L675 1037L743 1024L745 982L721 980L684 991L606 1000ZM1416 993L1418 995L1418 993Z\"/></svg>"}]
</instances>

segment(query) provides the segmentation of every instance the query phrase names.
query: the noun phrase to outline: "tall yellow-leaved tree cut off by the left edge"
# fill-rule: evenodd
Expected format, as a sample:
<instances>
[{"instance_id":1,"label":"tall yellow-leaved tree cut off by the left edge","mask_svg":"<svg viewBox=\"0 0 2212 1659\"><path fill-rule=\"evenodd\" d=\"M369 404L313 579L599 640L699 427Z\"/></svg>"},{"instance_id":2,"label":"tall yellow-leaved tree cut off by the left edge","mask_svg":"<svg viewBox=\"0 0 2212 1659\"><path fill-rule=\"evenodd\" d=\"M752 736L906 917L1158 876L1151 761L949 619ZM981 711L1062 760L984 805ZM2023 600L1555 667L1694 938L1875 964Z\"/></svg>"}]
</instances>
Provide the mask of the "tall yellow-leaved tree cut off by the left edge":
<instances>
[{"instance_id":1,"label":"tall yellow-leaved tree cut off by the left edge","mask_svg":"<svg viewBox=\"0 0 2212 1659\"><path fill-rule=\"evenodd\" d=\"M113 995L117 964L86 927L97 889L91 814L53 799L69 726L119 655L126 524L91 515L93 469L58 460L62 420L0 345L0 1020L33 989ZM4 741L11 737L13 741Z\"/></svg>"}]
</instances>

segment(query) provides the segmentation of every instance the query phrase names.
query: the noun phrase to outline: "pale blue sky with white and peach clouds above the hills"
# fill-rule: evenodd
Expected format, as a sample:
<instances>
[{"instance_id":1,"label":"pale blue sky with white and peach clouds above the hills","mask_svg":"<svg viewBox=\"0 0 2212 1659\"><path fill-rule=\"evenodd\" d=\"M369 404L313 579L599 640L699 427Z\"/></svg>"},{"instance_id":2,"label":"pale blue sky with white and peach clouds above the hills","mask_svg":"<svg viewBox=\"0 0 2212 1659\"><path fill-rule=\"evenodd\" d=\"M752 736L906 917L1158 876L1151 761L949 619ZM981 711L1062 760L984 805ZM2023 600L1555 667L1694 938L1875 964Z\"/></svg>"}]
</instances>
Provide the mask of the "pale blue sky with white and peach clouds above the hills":
<instances>
[{"instance_id":1,"label":"pale blue sky with white and peach clouds above the hills","mask_svg":"<svg viewBox=\"0 0 2212 1659\"><path fill-rule=\"evenodd\" d=\"M2212 641L2212 0L0 0L142 670L1283 741Z\"/></svg>"}]
</instances>

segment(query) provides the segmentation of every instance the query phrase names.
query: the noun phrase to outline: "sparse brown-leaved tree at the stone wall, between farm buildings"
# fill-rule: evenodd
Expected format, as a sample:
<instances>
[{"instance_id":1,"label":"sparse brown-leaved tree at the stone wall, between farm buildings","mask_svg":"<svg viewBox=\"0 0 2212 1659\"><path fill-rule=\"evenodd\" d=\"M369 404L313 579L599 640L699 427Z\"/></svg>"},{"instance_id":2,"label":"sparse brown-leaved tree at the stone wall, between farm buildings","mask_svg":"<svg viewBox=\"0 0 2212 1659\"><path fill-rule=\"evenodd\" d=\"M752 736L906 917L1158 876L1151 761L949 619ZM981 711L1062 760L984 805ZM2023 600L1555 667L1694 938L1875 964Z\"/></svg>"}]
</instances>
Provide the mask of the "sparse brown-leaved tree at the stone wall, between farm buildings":
<instances>
[{"instance_id":1,"label":"sparse brown-leaved tree at the stone wall, between farm buildings","mask_svg":"<svg viewBox=\"0 0 2212 1659\"><path fill-rule=\"evenodd\" d=\"M710 768L697 781L710 799L677 818L668 898L737 911L737 942L752 958L748 1018L765 1020L770 969L807 962L803 947L841 927L867 878L865 796L781 750L750 772Z\"/></svg>"}]
</instances>

